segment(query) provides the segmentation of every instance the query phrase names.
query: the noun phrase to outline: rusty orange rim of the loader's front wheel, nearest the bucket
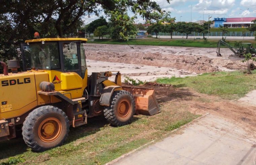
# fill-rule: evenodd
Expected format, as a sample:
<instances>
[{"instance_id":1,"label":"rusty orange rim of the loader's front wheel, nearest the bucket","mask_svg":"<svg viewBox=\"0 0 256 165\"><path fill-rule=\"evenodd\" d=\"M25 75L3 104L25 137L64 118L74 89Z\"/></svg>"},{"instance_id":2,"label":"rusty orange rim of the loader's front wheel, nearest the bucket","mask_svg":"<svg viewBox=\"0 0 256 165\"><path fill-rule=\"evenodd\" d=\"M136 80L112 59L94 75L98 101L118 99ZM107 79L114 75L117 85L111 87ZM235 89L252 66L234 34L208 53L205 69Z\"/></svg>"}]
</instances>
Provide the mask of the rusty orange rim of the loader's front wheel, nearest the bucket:
<instances>
[{"instance_id":1,"label":"rusty orange rim of the loader's front wheel, nearest the bucket","mask_svg":"<svg viewBox=\"0 0 256 165\"><path fill-rule=\"evenodd\" d=\"M131 102L128 99L122 99L117 105L117 115L120 118L126 118L132 111Z\"/></svg>"}]
</instances>

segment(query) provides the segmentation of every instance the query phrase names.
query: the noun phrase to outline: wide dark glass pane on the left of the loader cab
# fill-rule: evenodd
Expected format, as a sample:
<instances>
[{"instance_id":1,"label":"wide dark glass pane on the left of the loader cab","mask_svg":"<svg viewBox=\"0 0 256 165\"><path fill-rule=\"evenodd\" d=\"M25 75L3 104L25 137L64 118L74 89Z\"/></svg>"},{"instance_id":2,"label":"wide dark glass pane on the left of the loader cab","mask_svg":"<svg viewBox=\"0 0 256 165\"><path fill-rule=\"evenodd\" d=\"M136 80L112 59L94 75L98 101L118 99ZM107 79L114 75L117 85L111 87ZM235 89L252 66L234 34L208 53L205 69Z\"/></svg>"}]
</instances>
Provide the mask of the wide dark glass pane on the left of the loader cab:
<instances>
[{"instance_id":1,"label":"wide dark glass pane on the left of the loader cab","mask_svg":"<svg viewBox=\"0 0 256 165\"><path fill-rule=\"evenodd\" d=\"M30 43L23 46L25 68L59 69L60 56L57 42Z\"/></svg>"}]
</instances>

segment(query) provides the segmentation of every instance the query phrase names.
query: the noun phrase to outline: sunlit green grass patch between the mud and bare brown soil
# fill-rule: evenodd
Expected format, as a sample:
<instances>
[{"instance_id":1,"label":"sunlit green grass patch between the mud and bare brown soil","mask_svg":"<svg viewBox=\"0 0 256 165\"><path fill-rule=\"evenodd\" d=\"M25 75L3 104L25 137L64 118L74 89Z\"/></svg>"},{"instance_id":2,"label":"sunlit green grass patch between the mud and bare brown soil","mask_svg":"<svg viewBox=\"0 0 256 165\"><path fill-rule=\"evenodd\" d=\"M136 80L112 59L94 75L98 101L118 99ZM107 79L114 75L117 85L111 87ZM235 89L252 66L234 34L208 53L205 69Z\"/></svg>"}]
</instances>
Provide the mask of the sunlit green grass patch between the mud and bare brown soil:
<instances>
[{"instance_id":1,"label":"sunlit green grass patch between the mud and bare brown soil","mask_svg":"<svg viewBox=\"0 0 256 165\"><path fill-rule=\"evenodd\" d=\"M256 71L245 75L242 71L204 73L193 77L158 78L157 83L174 87L190 87L199 93L217 95L224 99L238 99L256 89Z\"/></svg>"}]
</instances>

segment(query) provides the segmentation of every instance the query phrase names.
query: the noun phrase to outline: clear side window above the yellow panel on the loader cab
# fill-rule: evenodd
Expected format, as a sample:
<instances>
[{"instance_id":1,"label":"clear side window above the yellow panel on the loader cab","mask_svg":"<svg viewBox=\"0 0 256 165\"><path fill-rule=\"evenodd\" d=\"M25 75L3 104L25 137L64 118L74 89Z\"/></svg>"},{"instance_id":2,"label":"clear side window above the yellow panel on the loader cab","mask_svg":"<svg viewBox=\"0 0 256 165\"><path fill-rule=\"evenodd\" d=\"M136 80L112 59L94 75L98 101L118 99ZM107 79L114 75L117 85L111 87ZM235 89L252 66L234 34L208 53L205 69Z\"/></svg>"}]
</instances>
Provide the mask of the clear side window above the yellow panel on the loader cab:
<instances>
[{"instance_id":1,"label":"clear side window above the yellow panel on the loader cab","mask_svg":"<svg viewBox=\"0 0 256 165\"><path fill-rule=\"evenodd\" d=\"M63 43L63 55L64 55L64 70L73 71L79 70L78 65L78 53L76 43Z\"/></svg>"}]
</instances>

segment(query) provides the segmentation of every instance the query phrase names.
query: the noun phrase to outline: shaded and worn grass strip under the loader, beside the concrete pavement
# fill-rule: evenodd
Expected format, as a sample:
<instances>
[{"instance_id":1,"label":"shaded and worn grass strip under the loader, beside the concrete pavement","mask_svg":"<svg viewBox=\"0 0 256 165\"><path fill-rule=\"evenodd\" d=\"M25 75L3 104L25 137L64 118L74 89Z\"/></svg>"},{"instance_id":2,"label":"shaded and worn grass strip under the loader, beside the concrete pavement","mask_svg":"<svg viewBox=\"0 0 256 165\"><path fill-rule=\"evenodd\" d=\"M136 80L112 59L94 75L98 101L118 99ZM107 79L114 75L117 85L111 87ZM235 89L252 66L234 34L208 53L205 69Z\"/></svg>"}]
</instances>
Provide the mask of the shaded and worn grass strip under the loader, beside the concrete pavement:
<instances>
[{"instance_id":1,"label":"shaded and worn grass strip under the loader, beside the concrete pavement","mask_svg":"<svg viewBox=\"0 0 256 165\"><path fill-rule=\"evenodd\" d=\"M162 103L161 110L154 116L136 115L122 127L110 126L103 116L89 118L88 124L70 129L63 146L44 152L31 151L22 138L0 142L0 164L9 157L22 157L20 164L104 164L199 117L171 102Z\"/></svg>"}]
</instances>

